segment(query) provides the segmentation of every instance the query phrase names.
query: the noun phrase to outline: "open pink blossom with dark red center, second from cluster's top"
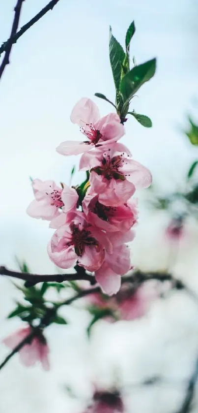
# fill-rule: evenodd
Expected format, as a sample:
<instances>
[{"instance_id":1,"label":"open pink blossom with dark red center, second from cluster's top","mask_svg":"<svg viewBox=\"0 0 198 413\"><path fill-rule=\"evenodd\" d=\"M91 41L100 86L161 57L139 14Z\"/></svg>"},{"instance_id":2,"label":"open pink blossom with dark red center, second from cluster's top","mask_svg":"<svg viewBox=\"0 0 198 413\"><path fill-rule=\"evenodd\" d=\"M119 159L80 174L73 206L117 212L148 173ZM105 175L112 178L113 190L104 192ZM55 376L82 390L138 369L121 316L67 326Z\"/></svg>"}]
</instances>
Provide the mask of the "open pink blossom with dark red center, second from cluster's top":
<instances>
[{"instance_id":1,"label":"open pink blossom with dark red center, second from cluster's top","mask_svg":"<svg viewBox=\"0 0 198 413\"><path fill-rule=\"evenodd\" d=\"M126 203L136 188L147 188L152 181L150 171L130 158L127 148L120 143L114 143L105 152L97 148L85 153L80 169L90 169L91 191L98 193L98 201L107 206Z\"/></svg>"}]
</instances>

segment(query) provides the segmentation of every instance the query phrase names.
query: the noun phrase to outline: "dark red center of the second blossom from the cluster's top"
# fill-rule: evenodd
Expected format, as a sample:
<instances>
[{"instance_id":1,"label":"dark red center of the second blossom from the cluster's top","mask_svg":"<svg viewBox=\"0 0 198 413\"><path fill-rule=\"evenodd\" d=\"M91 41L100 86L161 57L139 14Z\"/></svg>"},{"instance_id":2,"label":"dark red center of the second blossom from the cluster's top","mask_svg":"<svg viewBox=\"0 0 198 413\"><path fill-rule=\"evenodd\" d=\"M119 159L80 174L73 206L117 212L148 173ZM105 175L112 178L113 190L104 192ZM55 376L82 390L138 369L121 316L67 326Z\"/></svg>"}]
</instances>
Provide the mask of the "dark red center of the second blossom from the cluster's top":
<instances>
[{"instance_id":1,"label":"dark red center of the second blossom from the cluster's top","mask_svg":"<svg viewBox=\"0 0 198 413\"><path fill-rule=\"evenodd\" d=\"M92 168L91 171L95 171L98 175L103 175L106 179L121 179L125 180L125 176L120 168L124 164L123 154L116 155L113 158L110 155L104 154L100 166Z\"/></svg>"}]
</instances>

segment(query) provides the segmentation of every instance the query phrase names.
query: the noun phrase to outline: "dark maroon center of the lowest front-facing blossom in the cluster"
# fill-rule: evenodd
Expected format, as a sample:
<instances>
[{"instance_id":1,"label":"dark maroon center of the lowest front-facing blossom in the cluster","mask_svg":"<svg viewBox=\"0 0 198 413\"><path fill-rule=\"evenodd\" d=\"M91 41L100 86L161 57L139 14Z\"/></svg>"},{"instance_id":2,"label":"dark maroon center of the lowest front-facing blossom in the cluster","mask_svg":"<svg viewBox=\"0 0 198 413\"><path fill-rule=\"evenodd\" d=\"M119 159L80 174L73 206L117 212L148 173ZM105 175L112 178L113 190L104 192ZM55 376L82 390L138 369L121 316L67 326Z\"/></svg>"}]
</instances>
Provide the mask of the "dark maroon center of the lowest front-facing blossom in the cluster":
<instances>
[{"instance_id":1,"label":"dark maroon center of the lowest front-facing blossom in the cluster","mask_svg":"<svg viewBox=\"0 0 198 413\"><path fill-rule=\"evenodd\" d=\"M85 245L98 245L88 229L80 229L79 226L75 224L71 224L70 228L72 229L72 239L71 242L68 243L68 246L74 245L75 253L78 256L82 256L84 253Z\"/></svg>"}]
</instances>

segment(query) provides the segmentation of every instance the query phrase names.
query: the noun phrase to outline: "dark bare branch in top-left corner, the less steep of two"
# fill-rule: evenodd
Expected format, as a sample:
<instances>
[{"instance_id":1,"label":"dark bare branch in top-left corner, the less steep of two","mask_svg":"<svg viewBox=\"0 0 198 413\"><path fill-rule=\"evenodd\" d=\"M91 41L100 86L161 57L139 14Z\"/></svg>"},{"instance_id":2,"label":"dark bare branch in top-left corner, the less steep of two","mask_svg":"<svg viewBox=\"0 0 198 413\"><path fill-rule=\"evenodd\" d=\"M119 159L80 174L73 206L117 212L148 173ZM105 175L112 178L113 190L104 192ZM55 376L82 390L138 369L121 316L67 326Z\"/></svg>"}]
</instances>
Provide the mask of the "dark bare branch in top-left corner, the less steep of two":
<instances>
[{"instance_id":1,"label":"dark bare branch in top-left corner, the less steep of two","mask_svg":"<svg viewBox=\"0 0 198 413\"><path fill-rule=\"evenodd\" d=\"M24 1L24 0L22 0ZM38 20L41 19L48 11L52 10L53 7L57 4L59 0L51 0L39 13L36 14L28 23L26 23L18 32L11 33L10 38L2 43L0 46L0 55L3 52L7 52L9 45L12 46L13 43L16 43L19 37L22 36L31 26L33 26Z\"/></svg>"}]
</instances>

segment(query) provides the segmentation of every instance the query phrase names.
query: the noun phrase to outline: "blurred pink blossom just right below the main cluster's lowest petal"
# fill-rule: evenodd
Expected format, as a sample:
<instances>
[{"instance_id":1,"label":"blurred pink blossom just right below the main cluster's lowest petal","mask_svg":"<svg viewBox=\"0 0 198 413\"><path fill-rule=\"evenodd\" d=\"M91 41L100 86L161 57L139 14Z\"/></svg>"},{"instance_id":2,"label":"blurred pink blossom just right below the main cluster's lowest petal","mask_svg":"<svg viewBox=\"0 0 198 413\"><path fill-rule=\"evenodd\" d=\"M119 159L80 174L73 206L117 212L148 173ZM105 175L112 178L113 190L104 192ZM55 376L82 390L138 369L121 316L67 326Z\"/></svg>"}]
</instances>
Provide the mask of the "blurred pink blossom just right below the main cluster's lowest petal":
<instances>
[{"instance_id":1,"label":"blurred pink blossom just right below the main cluster's lowest petal","mask_svg":"<svg viewBox=\"0 0 198 413\"><path fill-rule=\"evenodd\" d=\"M123 320L133 320L146 314L151 303L159 296L156 283L147 282L133 293L123 288L117 297L118 311Z\"/></svg>"}]
</instances>

